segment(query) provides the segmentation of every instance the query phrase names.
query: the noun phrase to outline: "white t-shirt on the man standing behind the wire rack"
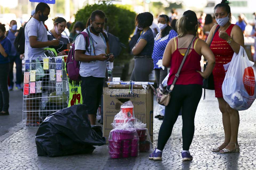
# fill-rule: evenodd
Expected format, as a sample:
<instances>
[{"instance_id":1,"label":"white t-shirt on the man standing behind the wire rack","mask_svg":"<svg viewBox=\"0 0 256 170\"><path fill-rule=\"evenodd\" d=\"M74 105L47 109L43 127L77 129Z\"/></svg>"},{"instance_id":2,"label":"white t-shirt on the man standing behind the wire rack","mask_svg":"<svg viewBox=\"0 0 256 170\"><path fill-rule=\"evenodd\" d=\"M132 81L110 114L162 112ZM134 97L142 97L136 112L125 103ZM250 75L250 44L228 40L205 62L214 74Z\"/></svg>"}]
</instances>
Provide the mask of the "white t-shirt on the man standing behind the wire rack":
<instances>
[{"instance_id":1,"label":"white t-shirt on the man standing behind the wire rack","mask_svg":"<svg viewBox=\"0 0 256 170\"><path fill-rule=\"evenodd\" d=\"M25 58L37 58L43 55L44 48L32 48L29 43L29 37L36 36L37 41L48 41L47 30L43 22L38 21L35 18L31 18L25 27Z\"/></svg>"}]
</instances>

